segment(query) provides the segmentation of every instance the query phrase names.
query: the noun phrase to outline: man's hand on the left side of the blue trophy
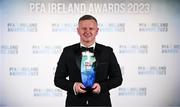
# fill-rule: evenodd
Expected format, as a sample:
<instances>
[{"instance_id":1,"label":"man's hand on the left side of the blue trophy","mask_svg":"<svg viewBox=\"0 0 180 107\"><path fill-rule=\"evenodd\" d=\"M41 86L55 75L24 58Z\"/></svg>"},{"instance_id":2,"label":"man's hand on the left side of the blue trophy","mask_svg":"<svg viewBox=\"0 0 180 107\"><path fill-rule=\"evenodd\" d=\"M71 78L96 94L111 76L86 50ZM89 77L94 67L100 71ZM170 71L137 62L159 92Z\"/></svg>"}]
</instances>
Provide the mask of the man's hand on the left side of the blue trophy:
<instances>
[{"instance_id":1,"label":"man's hand on the left side of the blue trophy","mask_svg":"<svg viewBox=\"0 0 180 107\"><path fill-rule=\"evenodd\" d=\"M86 90L84 90L85 86L80 82L75 82L74 84L74 91L78 93L86 93Z\"/></svg>"}]
</instances>

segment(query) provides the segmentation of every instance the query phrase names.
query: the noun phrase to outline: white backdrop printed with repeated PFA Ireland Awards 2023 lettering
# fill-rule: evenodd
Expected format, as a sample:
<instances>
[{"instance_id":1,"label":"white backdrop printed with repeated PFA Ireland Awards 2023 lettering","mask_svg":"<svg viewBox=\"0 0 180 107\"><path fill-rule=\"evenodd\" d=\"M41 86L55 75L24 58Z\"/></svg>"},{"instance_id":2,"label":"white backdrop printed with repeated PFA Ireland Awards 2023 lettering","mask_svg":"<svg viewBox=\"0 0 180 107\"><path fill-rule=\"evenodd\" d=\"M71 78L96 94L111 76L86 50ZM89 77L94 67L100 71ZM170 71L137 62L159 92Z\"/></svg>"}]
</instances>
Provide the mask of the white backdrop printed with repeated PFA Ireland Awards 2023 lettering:
<instances>
[{"instance_id":1,"label":"white backdrop printed with repeated PFA Ireland Awards 2023 lettering","mask_svg":"<svg viewBox=\"0 0 180 107\"><path fill-rule=\"evenodd\" d=\"M178 0L0 0L0 106L65 105L54 73L84 14L97 18L97 42L121 66L113 107L180 106Z\"/></svg>"}]
</instances>

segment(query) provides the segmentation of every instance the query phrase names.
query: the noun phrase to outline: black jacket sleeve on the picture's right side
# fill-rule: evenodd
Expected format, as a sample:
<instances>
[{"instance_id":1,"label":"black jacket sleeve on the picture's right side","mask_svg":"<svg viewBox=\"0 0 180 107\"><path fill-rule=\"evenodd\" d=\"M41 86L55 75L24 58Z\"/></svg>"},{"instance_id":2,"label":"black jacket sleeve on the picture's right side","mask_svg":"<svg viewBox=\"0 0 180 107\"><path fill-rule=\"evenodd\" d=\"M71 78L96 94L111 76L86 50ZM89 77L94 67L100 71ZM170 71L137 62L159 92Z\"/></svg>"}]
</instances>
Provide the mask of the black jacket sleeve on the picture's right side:
<instances>
[{"instance_id":1,"label":"black jacket sleeve on the picture's right side","mask_svg":"<svg viewBox=\"0 0 180 107\"><path fill-rule=\"evenodd\" d=\"M107 92L112 88L120 86L123 81L121 69L113 53L112 48L110 48L108 72L109 77L107 78L107 80L99 83L101 86L102 93Z\"/></svg>"}]
</instances>

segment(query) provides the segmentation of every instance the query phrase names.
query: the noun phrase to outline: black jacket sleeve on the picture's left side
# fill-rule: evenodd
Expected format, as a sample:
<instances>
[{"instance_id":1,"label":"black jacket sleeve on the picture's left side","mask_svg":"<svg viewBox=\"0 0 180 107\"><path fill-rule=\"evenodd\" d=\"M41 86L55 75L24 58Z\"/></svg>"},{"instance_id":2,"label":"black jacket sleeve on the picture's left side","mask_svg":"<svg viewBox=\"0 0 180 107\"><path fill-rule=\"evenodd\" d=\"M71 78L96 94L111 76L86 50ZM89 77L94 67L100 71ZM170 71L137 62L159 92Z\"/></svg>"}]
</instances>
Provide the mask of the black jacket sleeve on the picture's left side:
<instances>
[{"instance_id":1,"label":"black jacket sleeve on the picture's left side","mask_svg":"<svg viewBox=\"0 0 180 107\"><path fill-rule=\"evenodd\" d=\"M54 84L55 86L63 90L73 91L74 82L69 81L67 79L68 77L67 56L68 56L68 51L66 48L64 48L60 56L60 59L57 63L57 68L54 76Z\"/></svg>"}]
</instances>

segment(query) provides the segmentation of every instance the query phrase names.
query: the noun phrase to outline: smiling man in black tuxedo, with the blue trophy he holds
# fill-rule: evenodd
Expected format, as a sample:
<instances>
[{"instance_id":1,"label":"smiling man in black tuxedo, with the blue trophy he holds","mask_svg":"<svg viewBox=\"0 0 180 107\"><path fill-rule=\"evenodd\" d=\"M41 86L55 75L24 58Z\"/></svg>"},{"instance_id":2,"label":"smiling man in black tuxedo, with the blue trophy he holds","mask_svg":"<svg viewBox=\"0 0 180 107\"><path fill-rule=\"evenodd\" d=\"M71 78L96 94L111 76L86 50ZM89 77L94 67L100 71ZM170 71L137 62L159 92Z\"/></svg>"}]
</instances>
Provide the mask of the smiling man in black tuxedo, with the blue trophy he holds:
<instances>
[{"instance_id":1,"label":"smiling man in black tuxedo, with the blue trophy he holds","mask_svg":"<svg viewBox=\"0 0 180 107\"><path fill-rule=\"evenodd\" d=\"M111 107L109 90L122 84L120 66L111 47L96 43L95 17L79 19L80 43L63 49L54 83L67 91L66 106Z\"/></svg>"}]
</instances>

